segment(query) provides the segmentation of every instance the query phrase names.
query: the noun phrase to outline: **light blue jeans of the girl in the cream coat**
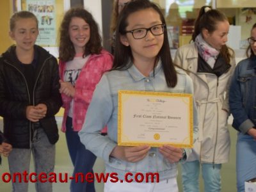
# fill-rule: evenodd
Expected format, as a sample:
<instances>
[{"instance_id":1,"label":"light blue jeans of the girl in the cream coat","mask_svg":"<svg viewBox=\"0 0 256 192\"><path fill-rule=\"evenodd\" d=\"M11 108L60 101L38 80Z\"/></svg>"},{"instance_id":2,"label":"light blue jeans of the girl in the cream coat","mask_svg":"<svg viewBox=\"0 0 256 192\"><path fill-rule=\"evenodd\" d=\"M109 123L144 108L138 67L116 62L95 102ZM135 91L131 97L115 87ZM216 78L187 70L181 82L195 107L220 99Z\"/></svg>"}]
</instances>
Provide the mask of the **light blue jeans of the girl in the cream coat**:
<instances>
[{"instance_id":1,"label":"light blue jeans of the girl in the cream coat","mask_svg":"<svg viewBox=\"0 0 256 192\"><path fill-rule=\"evenodd\" d=\"M205 192L221 191L221 164L202 163ZM184 192L199 191L200 162L189 161L182 164L182 186Z\"/></svg>"}]
</instances>

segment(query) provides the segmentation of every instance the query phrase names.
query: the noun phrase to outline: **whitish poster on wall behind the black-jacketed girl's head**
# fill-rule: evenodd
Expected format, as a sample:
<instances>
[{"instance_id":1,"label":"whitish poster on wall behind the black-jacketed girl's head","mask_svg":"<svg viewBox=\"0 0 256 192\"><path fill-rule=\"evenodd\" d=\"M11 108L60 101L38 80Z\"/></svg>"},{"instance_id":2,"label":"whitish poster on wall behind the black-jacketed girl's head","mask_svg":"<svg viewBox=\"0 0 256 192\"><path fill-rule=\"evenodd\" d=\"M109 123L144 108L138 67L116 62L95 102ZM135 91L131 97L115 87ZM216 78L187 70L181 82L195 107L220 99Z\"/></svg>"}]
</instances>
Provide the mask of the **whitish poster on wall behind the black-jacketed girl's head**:
<instances>
[{"instance_id":1,"label":"whitish poster on wall behind the black-jacketed girl's head","mask_svg":"<svg viewBox=\"0 0 256 192\"><path fill-rule=\"evenodd\" d=\"M55 0L27 0L26 10L36 15L39 35L36 44L56 45L56 4Z\"/></svg>"}]
</instances>

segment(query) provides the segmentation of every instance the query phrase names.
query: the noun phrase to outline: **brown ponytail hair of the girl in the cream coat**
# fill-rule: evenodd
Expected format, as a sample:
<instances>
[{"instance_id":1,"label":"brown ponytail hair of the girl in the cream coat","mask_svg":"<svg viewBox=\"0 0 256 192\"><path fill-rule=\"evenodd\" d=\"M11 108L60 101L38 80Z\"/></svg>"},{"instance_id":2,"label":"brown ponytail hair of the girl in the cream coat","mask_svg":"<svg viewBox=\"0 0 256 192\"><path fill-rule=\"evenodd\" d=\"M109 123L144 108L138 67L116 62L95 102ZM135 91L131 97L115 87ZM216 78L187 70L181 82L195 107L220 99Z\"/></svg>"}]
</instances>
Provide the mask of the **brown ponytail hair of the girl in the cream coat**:
<instances>
[{"instance_id":1,"label":"brown ponytail hair of the girl in the cream coat","mask_svg":"<svg viewBox=\"0 0 256 192\"><path fill-rule=\"evenodd\" d=\"M202 6L198 17L195 20L195 29L192 35L192 40L195 42L196 36L202 33L203 29L207 29L209 33L212 33L217 29L217 23L223 21L228 21L224 13L218 10L212 10L211 6ZM232 52L232 54L230 52ZM234 51L227 45L221 47L220 55L223 56L226 63L230 63L230 58L233 54Z\"/></svg>"}]
</instances>

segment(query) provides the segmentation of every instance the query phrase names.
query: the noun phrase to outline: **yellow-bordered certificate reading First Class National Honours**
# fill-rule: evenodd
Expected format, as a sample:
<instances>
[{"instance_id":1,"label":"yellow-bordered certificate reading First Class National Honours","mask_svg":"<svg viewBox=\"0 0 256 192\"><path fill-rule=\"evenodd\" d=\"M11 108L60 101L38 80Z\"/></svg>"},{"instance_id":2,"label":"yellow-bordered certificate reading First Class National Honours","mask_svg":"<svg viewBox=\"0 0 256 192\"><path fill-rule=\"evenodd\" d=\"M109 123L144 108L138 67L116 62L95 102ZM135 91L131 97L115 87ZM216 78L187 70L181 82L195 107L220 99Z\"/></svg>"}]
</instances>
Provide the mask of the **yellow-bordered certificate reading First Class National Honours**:
<instances>
[{"instance_id":1,"label":"yellow-bordered certificate reading First Class National Honours","mask_svg":"<svg viewBox=\"0 0 256 192\"><path fill-rule=\"evenodd\" d=\"M118 91L118 145L193 147L189 93Z\"/></svg>"}]
</instances>

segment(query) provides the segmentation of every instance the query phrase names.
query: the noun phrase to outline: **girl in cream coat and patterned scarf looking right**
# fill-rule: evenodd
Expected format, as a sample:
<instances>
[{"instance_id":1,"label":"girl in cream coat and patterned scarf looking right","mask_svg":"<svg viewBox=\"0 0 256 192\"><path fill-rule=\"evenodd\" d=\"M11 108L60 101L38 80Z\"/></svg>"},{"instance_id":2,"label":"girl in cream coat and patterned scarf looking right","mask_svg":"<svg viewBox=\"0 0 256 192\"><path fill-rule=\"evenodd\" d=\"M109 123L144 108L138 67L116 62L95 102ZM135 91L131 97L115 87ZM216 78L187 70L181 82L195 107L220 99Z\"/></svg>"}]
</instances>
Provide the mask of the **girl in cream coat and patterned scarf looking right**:
<instances>
[{"instance_id":1,"label":"girl in cream coat and patterned scarf looking right","mask_svg":"<svg viewBox=\"0 0 256 192\"><path fill-rule=\"evenodd\" d=\"M203 6L195 21L193 43L176 52L175 63L193 80L199 115L198 142L182 164L185 192L199 191L200 165L204 191L221 191L221 164L227 163L230 151L228 88L236 66L233 51L225 45L228 29L223 13Z\"/></svg>"}]
</instances>

